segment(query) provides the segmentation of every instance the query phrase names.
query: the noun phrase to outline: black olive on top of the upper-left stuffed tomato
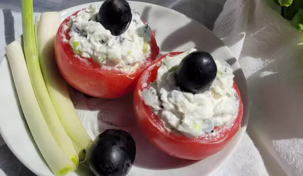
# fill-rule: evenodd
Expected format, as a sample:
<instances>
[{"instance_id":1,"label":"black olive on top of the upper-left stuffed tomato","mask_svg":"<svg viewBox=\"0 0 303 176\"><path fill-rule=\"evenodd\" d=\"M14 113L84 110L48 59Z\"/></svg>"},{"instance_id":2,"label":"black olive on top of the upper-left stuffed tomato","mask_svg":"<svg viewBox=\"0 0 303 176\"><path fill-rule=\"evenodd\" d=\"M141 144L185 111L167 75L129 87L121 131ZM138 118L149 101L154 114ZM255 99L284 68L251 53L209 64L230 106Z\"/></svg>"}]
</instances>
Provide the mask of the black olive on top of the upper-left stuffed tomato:
<instances>
[{"instance_id":1,"label":"black olive on top of the upper-left stuffed tomato","mask_svg":"<svg viewBox=\"0 0 303 176\"><path fill-rule=\"evenodd\" d=\"M98 12L98 22L114 36L127 30L131 18L131 9L125 0L106 0Z\"/></svg>"}]
</instances>

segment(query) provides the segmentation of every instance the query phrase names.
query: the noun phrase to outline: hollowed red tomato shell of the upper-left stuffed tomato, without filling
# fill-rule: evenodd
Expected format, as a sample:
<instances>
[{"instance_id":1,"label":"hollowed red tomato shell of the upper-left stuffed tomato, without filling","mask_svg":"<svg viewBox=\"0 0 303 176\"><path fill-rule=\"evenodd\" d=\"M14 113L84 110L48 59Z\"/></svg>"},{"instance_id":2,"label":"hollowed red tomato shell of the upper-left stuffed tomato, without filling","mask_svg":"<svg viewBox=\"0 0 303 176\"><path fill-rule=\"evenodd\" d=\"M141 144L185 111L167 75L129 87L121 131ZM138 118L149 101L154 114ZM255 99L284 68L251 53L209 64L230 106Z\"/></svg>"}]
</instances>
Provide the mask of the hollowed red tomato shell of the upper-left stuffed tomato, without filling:
<instances>
[{"instance_id":1,"label":"hollowed red tomato shell of the upper-left stuffed tomato, without filling","mask_svg":"<svg viewBox=\"0 0 303 176\"><path fill-rule=\"evenodd\" d=\"M79 12L79 11L78 11ZM76 15L78 12L74 13ZM91 58L75 55L67 40L70 39L65 19L60 25L55 38L56 61L64 79L75 89L93 97L114 99L134 90L134 87L144 69L156 59L159 54L155 35L152 32L150 48L151 54L145 58L144 63L138 66L133 73L127 74L114 69L101 68Z\"/></svg>"}]
</instances>

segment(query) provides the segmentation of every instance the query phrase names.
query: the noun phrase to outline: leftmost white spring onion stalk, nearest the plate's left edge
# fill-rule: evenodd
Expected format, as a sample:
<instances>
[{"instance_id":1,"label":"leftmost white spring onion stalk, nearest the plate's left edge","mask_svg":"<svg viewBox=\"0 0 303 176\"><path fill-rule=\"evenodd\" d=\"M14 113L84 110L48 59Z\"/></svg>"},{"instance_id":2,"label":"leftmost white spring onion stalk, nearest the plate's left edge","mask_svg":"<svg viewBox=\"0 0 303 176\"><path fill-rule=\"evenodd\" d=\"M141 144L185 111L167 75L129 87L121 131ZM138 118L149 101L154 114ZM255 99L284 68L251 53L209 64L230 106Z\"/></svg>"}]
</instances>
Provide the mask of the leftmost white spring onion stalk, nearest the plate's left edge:
<instances>
[{"instance_id":1,"label":"leftmost white spring onion stalk, nearest the plate's left edge","mask_svg":"<svg viewBox=\"0 0 303 176\"><path fill-rule=\"evenodd\" d=\"M48 166L56 175L65 175L75 169L65 155L43 118L27 71L21 44L14 41L5 47L19 102L29 130Z\"/></svg>"}]
</instances>

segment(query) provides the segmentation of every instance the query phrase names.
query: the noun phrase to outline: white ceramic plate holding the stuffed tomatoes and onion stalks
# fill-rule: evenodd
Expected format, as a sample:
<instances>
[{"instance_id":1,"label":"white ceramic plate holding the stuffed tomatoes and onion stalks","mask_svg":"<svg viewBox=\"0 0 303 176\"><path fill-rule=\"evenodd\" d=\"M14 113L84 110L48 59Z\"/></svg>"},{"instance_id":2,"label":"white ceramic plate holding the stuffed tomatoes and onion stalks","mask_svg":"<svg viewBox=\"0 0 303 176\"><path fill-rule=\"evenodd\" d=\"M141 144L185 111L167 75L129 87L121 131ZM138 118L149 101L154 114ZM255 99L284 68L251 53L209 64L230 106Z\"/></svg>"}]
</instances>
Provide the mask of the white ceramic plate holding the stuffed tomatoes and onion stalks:
<instances>
[{"instance_id":1,"label":"white ceramic plate holding the stuffed tomatoes and onion stalks","mask_svg":"<svg viewBox=\"0 0 303 176\"><path fill-rule=\"evenodd\" d=\"M102 3L94 4L100 6ZM89 4L85 4L62 11L62 20L88 6ZM223 150L211 157L201 161L180 160L162 153L142 136L134 121L131 95L118 100L103 100L86 98L78 91L70 89L81 122L92 138L105 128L122 128L130 131L137 145L136 160L129 173L131 176L210 175L233 154L246 130L249 107L243 72L230 50L198 22L171 9L152 4L130 2L130 7L138 10L142 20L149 22L154 29L161 54L196 47L198 50L210 52L213 57L227 60L232 65L244 108L240 130ZM17 158L35 174L53 175L36 148L23 118L7 58L0 64L0 80L2 137ZM73 172L68 175L84 174Z\"/></svg>"}]
</instances>

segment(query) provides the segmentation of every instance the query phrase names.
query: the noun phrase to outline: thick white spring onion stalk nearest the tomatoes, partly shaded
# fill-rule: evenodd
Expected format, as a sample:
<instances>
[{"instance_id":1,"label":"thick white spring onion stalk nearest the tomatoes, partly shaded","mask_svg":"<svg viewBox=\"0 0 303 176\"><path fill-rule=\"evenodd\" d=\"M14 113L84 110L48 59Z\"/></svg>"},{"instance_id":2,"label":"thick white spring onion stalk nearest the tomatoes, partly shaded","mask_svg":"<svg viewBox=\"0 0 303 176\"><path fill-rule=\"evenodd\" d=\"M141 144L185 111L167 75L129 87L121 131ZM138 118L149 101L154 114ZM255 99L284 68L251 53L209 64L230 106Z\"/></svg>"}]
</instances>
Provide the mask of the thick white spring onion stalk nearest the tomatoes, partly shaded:
<instances>
[{"instance_id":1,"label":"thick white spring onion stalk nearest the tomatoes, partly shaded","mask_svg":"<svg viewBox=\"0 0 303 176\"><path fill-rule=\"evenodd\" d=\"M81 124L70 99L67 84L61 76L55 60L54 37L60 26L59 12L45 12L40 16L37 27L39 63L49 96L59 119L72 140L80 160L85 159L85 149L92 143Z\"/></svg>"}]
</instances>

